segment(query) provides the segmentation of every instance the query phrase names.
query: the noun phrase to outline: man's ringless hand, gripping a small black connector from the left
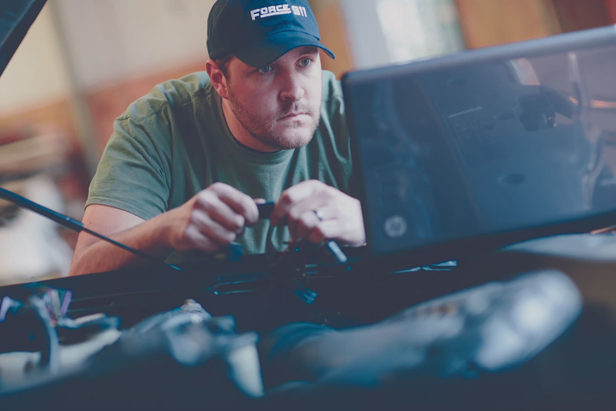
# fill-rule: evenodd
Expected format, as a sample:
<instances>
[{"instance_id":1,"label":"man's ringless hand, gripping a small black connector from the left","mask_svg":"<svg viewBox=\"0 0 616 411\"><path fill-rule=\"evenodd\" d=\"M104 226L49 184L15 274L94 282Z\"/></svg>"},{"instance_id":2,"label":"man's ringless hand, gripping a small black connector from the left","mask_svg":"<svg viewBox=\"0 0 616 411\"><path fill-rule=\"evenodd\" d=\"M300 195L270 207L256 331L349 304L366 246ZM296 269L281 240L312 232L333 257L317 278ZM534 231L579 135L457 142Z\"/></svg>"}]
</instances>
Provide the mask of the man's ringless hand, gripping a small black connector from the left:
<instances>
[{"instance_id":1,"label":"man's ringless hand, gripping a small black connector from the left","mask_svg":"<svg viewBox=\"0 0 616 411\"><path fill-rule=\"evenodd\" d=\"M217 251L259 219L255 201L224 183L214 183L168 211L169 246L179 251Z\"/></svg>"}]
</instances>

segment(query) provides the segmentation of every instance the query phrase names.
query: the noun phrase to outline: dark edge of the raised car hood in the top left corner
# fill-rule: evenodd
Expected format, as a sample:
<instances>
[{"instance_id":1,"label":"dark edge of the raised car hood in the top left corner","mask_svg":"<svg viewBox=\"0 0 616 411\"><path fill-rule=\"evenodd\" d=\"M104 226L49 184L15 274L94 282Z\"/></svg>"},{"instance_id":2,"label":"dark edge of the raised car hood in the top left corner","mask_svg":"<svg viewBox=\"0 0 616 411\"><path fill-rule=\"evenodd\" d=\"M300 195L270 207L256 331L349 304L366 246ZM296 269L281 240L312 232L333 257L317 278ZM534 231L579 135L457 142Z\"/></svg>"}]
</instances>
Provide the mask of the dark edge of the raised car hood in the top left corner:
<instances>
[{"instance_id":1,"label":"dark edge of the raised car hood in the top left corner","mask_svg":"<svg viewBox=\"0 0 616 411\"><path fill-rule=\"evenodd\" d=\"M47 0L0 2L0 75Z\"/></svg>"}]
</instances>

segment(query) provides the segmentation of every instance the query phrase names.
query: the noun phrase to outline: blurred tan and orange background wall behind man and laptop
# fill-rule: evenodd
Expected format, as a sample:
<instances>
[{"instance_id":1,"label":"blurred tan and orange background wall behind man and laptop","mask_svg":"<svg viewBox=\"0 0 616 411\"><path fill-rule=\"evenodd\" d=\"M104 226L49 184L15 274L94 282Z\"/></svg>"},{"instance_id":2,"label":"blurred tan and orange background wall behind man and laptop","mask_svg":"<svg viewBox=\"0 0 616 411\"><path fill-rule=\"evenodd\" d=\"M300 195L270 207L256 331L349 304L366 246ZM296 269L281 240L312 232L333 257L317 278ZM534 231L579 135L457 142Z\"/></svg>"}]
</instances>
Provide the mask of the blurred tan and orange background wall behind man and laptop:
<instances>
[{"instance_id":1,"label":"blurred tan and orange background wall behind man and laptop","mask_svg":"<svg viewBox=\"0 0 616 411\"><path fill-rule=\"evenodd\" d=\"M213 2L49 0L0 77L0 184L22 193L31 193L32 184L55 188L60 202L49 190L34 193L49 194L41 194L38 201L81 218L87 185L113 119L157 83L203 69L208 58L206 21ZM323 43L338 57L324 59L323 67L338 77L356 68L616 23L616 0L310 4ZM2 255L2 235L10 242L9 228L23 218L20 213L0 203L0 283L65 275L66 261L49 263L45 269L44 264L26 267L25 262L37 255L26 246L22 254L12 255L14 265L2 268L2 260L10 257ZM36 224L31 230L36 236ZM70 260L76 236L57 230L57 238L63 242L64 260Z\"/></svg>"}]
</instances>

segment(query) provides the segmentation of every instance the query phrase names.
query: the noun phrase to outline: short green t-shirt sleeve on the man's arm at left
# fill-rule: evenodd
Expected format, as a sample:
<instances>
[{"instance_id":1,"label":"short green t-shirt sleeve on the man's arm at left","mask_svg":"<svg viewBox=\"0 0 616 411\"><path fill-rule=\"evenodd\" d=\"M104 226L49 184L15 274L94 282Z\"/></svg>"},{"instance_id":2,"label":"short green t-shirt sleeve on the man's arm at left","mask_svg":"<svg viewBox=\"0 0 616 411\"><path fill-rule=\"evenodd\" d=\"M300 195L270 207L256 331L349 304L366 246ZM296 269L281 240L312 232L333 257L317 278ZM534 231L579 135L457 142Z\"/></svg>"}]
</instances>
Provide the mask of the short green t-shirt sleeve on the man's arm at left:
<instances>
[{"instance_id":1,"label":"short green t-shirt sleeve on the man's arm at left","mask_svg":"<svg viewBox=\"0 0 616 411\"><path fill-rule=\"evenodd\" d=\"M171 133L164 112L114 123L86 207L103 204L149 220L168 208L171 187Z\"/></svg>"}]
</instances>

